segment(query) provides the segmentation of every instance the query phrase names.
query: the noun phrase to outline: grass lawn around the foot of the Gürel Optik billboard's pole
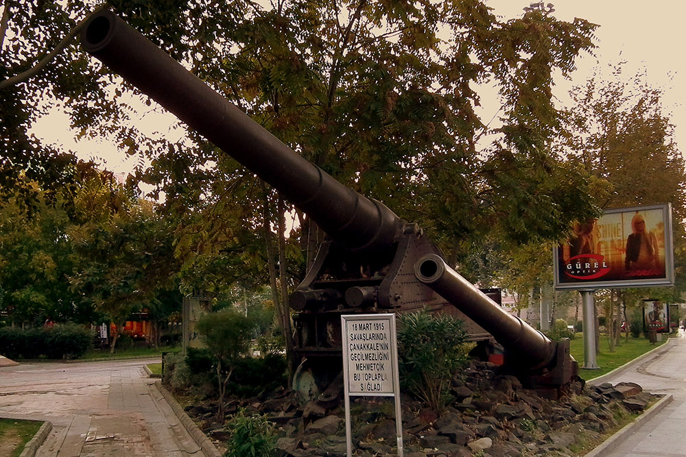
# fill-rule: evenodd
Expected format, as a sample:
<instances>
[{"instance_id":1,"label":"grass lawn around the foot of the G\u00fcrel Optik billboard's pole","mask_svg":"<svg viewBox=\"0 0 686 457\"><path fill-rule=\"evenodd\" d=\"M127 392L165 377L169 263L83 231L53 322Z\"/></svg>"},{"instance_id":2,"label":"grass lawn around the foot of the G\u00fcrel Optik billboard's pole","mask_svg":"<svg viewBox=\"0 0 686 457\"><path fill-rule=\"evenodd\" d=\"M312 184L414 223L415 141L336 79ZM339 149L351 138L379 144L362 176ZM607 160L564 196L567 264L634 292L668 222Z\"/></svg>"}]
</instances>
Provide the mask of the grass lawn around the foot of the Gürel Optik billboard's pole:
<instances>
[{"instance_id":1,"label":"grass lawn around the foot of the G\u00fcrel Optik billboard's pole","mask_svg":"<svg viewBox=\"0 0 686 457\"><path fill-rule=\"evenodd\" d=\"M610 343L607 341L606 335L600 335L600 351L595 360L598 362L600 369L597 370L584 370L579 369L579 375L584 380L592 380L593 378L598 378L605 373L613 371L617 367L621 367L626 362L633 360L648 351L652 351L655 347L667 343L667 335L662 336L662 341L660 343L650 344L648 338L639 336L639 338L633 338L629 336L628 340L623 335L622 341L619 345L615 346L615 351L610 352ZM581 333L576 334L576 338L571 341L571 355L579 362L579 367L584 365L584 336Z\"/></svg>"}]
</instances>

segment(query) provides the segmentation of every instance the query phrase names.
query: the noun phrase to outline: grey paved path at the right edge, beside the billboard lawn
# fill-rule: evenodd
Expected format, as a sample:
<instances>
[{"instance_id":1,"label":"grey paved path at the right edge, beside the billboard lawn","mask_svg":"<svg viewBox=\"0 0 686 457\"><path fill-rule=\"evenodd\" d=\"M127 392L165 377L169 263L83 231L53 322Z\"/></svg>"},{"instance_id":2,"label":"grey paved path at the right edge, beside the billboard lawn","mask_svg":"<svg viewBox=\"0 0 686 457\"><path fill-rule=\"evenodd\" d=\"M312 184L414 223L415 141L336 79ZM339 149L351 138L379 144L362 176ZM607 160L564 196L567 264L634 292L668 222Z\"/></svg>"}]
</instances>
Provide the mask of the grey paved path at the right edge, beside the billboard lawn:
<instances>
[{"instance_id":1,"label":"grey paved path at the right edge, beside the billboard lawn","mask_svg":"<svg viewBox=\"0 0 686 457\"><path fill-rule=\"evenodd\" d=\"M636 382L643 390L669 394L674 401L604 454L613 457L686 456L686 336L658 349L603 381Z\"/></svg>"}]
</instances>

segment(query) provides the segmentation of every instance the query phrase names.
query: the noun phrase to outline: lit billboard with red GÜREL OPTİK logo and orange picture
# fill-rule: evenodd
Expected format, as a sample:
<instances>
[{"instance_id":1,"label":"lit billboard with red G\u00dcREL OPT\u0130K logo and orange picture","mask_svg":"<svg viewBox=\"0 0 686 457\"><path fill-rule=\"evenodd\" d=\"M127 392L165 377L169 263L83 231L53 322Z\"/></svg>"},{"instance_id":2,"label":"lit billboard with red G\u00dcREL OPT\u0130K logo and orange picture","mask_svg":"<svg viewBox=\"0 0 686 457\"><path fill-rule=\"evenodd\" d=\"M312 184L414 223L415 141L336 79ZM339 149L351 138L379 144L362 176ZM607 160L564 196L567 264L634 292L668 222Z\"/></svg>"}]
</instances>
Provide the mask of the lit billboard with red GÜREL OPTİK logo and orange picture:
<instances>
[{"instance_id":1,"label":"lit billboard with red G\u00dcREL OPT\u0130K logo and orange picture","mask_svg":"<svg viewBox=\"0 0 686 457\"><path fill-rule=\"evenodd\" d=\"M554 249L555 288L674 284L670 205L606 210Z\"/></svg>"}]
</instances>

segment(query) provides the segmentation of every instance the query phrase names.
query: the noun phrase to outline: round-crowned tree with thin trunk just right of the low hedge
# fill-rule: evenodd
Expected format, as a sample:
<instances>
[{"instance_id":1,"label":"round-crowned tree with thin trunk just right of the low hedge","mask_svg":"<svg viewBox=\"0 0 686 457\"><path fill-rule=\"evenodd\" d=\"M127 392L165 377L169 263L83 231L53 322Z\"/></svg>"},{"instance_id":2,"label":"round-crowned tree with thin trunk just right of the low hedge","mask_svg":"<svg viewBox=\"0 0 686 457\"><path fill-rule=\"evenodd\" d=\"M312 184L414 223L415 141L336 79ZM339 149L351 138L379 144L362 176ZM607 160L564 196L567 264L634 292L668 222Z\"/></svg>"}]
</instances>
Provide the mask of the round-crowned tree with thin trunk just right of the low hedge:
<instances>
[{"instance_id":1,"label":"round-crowned tree with thin trunk just right of the low hedge","mask_svg":"<svg viewBox=\"0 0 686 457\"><path fill-rule=\"evenodd\" d=\"M152 203L126 195L107 175L84 186L75 206L85 220L69 232L74 262L80 264L71 288L117 325L110 346L114 352L132 312L152 306L154 317L161 318L156 299L173 290L178 271L170 227L154 214Z\"/></svg>"}]
</instances>

